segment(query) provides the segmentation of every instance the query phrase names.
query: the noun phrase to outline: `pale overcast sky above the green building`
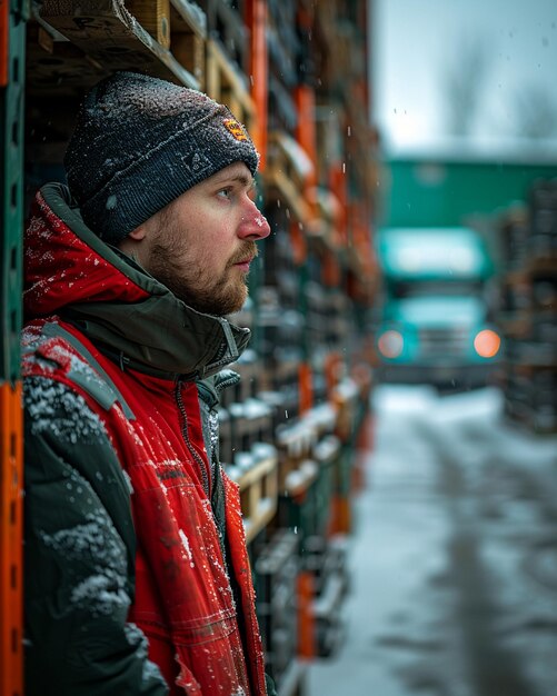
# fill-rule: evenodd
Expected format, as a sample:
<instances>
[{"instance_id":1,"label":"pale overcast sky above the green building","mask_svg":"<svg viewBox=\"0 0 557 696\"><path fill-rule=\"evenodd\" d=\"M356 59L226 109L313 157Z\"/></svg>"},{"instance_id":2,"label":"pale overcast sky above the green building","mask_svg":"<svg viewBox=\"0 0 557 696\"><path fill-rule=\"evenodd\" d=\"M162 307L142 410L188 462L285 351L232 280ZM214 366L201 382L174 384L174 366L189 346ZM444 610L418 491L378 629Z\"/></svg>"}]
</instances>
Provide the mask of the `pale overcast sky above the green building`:
<instances>
[{"instance_id":1,"label":"pale overcast sky above the green building","mask_svg":"<svg viewBox=\"0 0 557 696\"><path fill-rule=\"evenodd\" d=\"M372 7L374 121L387 149L537 143L557 162L557 0Z\"/></svg>"}]
</instances>

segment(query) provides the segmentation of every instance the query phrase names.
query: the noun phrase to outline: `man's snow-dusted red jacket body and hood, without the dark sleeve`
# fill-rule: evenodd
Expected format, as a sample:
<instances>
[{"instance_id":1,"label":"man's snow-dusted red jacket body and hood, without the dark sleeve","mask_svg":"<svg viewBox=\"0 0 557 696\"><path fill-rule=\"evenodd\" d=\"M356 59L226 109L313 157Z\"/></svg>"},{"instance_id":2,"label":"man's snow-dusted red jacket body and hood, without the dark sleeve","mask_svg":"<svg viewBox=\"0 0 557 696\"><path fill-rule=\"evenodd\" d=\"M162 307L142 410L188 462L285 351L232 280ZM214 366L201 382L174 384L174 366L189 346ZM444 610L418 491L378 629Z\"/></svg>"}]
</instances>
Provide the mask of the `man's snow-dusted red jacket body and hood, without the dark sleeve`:
<instances>
[{"instance_id":1,"label":"man's snow-dusted red jacket body and hood, without the dark sleeve","mask_svg":"<svg viewBox=\"0 0 557 696\"><path fill-rule=\"evenodd\" d=\"M127 623L148 637L170 693L263 696L239 491L217 461L215 389L200 381L238 357L247 332L187 308L120 258L79 222L63 193L52 187L38 196L27 238L29 417L40 424L47 416L33 401L42 378L78 395L99 420L129 484L136 550ZM34 480L32 446L29 453ZM79 459L74 449L64 456ZM96 471L89 476L92 485ZM26 504L32 511L32 495Z\"/></svg>"}]
</instances>

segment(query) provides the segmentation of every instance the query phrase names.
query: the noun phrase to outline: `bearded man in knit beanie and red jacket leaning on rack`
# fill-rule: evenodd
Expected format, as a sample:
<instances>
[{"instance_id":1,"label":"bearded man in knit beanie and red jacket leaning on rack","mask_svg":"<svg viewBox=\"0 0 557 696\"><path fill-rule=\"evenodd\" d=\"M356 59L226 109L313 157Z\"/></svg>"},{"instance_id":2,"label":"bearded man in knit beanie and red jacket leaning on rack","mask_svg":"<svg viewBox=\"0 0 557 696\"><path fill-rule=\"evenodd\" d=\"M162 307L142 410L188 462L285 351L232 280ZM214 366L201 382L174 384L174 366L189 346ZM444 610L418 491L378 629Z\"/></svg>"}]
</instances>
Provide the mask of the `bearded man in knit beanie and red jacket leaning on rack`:
<instances>
[{"instance_id":1,"label":"bearded man in knit beanie and red jacket leaning on rack","mask_svg":"<svg viewBox=\"0 0 557 696\"><path fill-rule=\"evenodd\" d=\"M216 411L258 155L226 107L121 72L64 166L26 233L26 694L263 696Z\"/></svg>"}]
</instances>

